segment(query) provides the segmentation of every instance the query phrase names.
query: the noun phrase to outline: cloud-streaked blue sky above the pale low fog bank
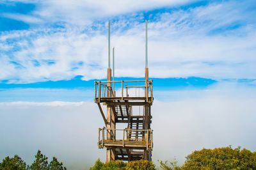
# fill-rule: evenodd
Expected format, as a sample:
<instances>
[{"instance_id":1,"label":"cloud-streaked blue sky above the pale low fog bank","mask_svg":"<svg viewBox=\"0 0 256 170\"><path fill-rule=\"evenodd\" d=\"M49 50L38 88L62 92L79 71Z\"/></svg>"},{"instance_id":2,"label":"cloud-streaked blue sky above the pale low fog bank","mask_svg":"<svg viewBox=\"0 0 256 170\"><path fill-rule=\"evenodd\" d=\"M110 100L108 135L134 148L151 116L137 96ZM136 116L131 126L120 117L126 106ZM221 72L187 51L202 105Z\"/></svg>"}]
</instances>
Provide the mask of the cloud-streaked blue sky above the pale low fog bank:
<instances>
[{"instance_id":1,"label":"cloud-streaked blue sky above the pale low fog bank","mask_svg":"<svg viewBox=\"0 0 256 170\"><path fill-rule=\"evenodd\" d=\"M175 80L159 87L184 88L184 80L191 87L193 79L253 85L255 7L254 1L1 1L0 88L92 88L106 77L108 20L116 77L143 77L146 19L150 77Z\"/></svg>"}]
</instances>

